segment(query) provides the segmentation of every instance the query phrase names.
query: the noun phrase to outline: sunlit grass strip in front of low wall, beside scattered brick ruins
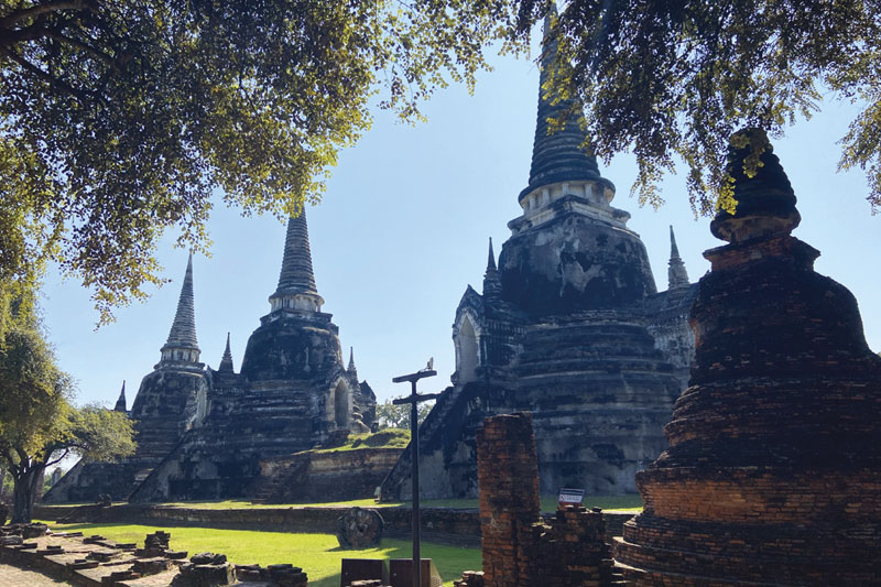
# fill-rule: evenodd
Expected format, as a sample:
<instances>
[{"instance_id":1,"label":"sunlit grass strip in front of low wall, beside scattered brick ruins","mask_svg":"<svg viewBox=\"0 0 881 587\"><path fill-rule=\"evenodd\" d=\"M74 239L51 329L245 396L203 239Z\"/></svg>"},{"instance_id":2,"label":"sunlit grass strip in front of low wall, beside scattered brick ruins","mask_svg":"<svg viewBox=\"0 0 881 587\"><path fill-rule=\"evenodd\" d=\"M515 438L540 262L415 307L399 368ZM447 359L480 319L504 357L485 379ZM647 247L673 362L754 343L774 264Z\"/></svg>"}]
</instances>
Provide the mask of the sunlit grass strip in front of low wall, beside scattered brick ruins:
<instances>
[{"instance_id":1,"label":"sunlit grass strip in front of low wall, beside scattered brick ruins","mask_svg":"<svg viewBox=\"0 0 881 587\"><path fill-rule=\"evenodd\" d=\"M144 536L156 530L171 532L171 547L187 551L226 554L237 564L272 565L292 563L303 567L315 587L339 585L341 558L409 558L410 542L384 539L379 548L346 551L339 547L333 534L289 534L285 532L253 532L244 530L214 530L205 528L146 526L128 524L53 524L55 531L81 531L86 535L101 534L117 542L143 543ZM480 550L446 546L423 542L422 555L433 558L450 587L461 577L463 570L480 569Z\"/></svg>"}]
</instances>

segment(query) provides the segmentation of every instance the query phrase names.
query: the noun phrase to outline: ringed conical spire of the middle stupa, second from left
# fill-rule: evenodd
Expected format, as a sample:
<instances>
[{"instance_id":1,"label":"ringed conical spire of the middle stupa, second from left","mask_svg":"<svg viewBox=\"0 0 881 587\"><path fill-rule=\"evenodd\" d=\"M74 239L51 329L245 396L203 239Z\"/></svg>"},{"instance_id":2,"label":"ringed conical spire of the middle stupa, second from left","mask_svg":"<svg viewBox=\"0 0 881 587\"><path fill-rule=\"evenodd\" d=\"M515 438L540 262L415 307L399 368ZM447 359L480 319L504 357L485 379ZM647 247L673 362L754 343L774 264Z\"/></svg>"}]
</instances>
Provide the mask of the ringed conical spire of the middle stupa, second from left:
<instances>
[{"instance_id":1,"label":"ringed conical spire of the middle stupa, second from left","mask_svg":"<svg viewBox=\"0 0 881 587\"><path fill-rule=\"evenodd\" d=\"M315 287L305 209L287 221L279 286L269 301L273 312L282 308L319 312L324 304Z\"/></svg>"}]
</instances>

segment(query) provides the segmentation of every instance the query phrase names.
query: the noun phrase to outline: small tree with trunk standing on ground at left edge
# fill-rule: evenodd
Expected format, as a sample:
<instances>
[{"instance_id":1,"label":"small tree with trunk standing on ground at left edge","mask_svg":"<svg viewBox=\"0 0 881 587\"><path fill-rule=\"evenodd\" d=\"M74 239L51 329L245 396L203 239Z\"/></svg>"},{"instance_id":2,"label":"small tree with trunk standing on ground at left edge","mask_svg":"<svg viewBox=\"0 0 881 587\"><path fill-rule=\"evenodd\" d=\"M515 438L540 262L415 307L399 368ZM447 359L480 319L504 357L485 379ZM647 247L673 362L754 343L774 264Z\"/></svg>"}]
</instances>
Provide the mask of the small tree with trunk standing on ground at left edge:
<instances>
[{"instance_id":1,"label":"small tree with trunk standing on ground at left edge","mask_svg":"<svg viewBox=\"0 0 881 587\"><path fill-rule=\"evenodd\" d=\"M134 452L131 422L97 405L69 402L70 378L58 370L39 324L9 313L0 339L0 463L13 481L12 521L30 521L46 467L73 453L112 460Z\"/></svg>"}]
</instances>

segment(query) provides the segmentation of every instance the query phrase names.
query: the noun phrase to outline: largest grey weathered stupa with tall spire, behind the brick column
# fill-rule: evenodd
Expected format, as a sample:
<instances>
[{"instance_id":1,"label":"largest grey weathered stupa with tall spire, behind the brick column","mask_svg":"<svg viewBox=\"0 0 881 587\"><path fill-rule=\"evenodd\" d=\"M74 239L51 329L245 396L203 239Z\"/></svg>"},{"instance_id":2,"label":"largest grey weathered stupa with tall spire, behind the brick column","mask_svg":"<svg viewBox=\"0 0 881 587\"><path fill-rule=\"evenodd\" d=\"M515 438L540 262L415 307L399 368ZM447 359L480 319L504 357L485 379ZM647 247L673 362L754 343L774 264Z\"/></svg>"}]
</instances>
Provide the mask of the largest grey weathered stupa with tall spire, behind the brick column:
<instances>
[{"instance_id":1,"label":"largest grey weathered stupa with tall spire, behind the brick column","mask_svg":"<svg viewBox=\"0 0 881 587\"><path fill-rule=\"evenodd\" d=\"M490 241L482 293L469 285L456 309L453 387L421 428L425 497L476 497L475 432L514 411L533 414L543 493L635 492L687 381L695 287L671 231L670 289L657 292L630 214L585 150L580 105L541 89L556 58L548 26L522 214L498 265ZM409 497L409 471L405 452L383 499Z\"/></svg>"}]
</instances>

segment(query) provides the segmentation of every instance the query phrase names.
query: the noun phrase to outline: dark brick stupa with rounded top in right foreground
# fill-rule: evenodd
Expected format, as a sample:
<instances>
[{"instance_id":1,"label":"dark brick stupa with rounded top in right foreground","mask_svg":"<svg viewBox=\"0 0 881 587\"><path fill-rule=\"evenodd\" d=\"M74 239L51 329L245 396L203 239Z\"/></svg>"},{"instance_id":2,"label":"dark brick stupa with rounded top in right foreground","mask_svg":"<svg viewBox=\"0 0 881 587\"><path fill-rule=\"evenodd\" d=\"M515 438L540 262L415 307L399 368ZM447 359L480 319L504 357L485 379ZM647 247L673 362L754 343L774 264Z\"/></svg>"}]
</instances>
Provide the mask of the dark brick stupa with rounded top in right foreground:
<instances>
[{"instance_id":1,"label":"dark brick stupa with rounded top in right foreground","mask_svg":"<svg viewBox=\"0 0 881 587\"><path fill-rule=\"evenodd\" d=\"M633 585L878 585L881 359L855 297L790 235L795 195L763 131L732 138L729 172L738 206L711 225L729 244L705 253L689 388L638 474L645 509L618 564Z\"/></svg>"}]
</instances>

